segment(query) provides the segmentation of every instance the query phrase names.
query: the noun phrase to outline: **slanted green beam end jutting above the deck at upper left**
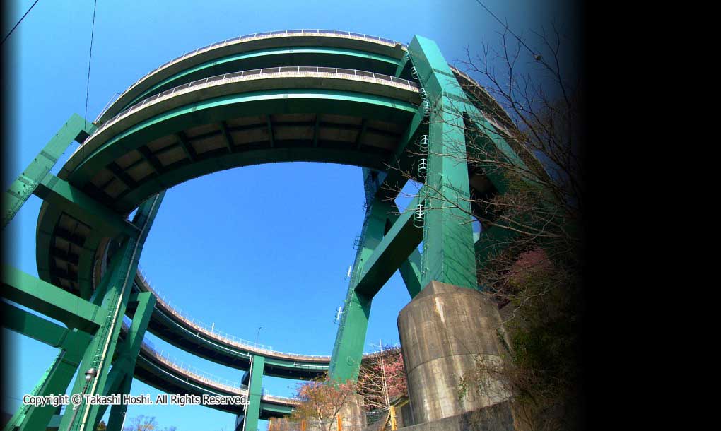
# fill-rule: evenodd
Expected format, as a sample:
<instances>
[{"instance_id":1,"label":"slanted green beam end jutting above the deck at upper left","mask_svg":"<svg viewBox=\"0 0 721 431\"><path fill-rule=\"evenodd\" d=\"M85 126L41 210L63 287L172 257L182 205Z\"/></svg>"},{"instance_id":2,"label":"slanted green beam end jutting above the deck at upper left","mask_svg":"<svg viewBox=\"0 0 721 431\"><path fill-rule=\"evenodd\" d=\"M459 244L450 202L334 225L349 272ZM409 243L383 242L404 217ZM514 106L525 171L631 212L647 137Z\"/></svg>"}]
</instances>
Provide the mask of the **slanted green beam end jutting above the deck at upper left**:
<instances>
[{"instance_id":1,"label":"slanted green beam end jutting above the deck at upper left","mask_svg":"<svg viewBox=\"0 0 721 431\"><path fill-rule=\"evenodd\" d=\"M58 130L58 133L50 139L37 154L35 160L30 162L25 171L10 185L5 192L2 203L3 205L3 225L4 229L15 214L25 204L27 198L35 192L40 182L43 181L45 175L53 169L60 156L66 151L73 141L82 142L88 135L95 131L95 126L89 123L83 117L73 114L70 119Z\"/></svg>"}]
</instances>

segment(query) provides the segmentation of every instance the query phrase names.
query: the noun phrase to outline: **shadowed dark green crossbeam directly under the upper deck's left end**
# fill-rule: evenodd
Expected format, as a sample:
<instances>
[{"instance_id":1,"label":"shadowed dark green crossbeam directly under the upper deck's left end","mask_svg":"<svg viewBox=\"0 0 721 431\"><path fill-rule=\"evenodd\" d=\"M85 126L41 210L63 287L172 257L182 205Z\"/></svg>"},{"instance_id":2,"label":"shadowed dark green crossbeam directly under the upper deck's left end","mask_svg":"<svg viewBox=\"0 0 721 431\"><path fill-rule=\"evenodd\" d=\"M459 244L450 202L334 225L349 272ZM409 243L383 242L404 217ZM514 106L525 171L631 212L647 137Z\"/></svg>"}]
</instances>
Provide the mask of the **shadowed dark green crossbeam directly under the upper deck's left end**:
<instances>
[{"instance_id":1,"label":"shadowed dark green crossbeam directly under the upper deck's left end","mask_svg":"<svg viewBox=\"0 0 721 431\"><path fill-rule=\"evenodd\" d=\"M37 185L35 195L79 221L100 228L107 236L138 234L136 226L53 174L45 175Z\"/></svg>"}]
</instances>

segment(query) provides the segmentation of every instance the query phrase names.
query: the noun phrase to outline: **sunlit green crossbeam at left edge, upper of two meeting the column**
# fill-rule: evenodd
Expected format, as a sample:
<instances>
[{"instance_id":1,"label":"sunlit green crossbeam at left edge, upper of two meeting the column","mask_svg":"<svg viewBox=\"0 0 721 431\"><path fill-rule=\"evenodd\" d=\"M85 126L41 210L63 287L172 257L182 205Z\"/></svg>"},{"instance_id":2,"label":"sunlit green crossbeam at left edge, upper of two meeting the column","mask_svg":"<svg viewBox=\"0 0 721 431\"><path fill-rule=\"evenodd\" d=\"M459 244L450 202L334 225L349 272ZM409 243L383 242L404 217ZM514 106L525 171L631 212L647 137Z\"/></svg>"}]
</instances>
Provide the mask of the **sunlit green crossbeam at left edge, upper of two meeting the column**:
<instances>
[{"instance_id":1,"label":"sunlit green crossbeam at left edge, upper of two meeting the column","mask_svg":"<svg viewBox=\"0 0 721 431\"><path fill-rule=\"evenodd\" d=\"M94 333L105 321L105 309L32 275L2 266L2 296L68 325Z\"/></svg>"}]
</instances>

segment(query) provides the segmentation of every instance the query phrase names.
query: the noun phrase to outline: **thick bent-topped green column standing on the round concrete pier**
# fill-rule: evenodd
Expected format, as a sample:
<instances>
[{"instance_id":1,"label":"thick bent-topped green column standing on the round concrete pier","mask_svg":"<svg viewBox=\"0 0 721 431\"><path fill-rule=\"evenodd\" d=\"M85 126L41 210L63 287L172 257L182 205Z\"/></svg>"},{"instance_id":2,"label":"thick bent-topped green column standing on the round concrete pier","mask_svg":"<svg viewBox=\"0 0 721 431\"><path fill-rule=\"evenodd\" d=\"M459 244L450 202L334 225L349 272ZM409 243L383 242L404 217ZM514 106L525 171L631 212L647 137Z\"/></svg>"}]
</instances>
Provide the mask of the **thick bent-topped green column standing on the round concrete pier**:
<instances>
[{"instance_id":1,"label":"thick bent-topped green column standing on the round concrete pier","mask_svg":"<svg viewBox=\"0 0 721 431\"><path fill-rule=\"evenodd\" d=\"M457 108L470 104L438 45L416 35L408 51L432 107L421 285L437 280L475 289L463 110Z\"/></svg>"}]
</instances>

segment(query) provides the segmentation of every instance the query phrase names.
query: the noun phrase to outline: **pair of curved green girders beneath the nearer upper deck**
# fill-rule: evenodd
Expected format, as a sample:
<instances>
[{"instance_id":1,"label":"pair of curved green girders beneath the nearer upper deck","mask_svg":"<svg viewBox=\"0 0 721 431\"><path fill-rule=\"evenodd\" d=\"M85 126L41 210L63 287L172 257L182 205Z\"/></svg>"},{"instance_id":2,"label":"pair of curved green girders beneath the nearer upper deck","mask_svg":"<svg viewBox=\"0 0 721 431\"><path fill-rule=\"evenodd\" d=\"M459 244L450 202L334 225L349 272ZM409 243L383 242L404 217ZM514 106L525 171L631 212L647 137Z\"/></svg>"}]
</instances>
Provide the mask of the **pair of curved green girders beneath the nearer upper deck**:
<instances>
[{"instance_id":1,"label":"pair of curved green girders beneath the nearer upper deck","mask_svg":"<svg viewBox=\"0 0 721 431\"><path fill-rule=\"evenodd\" d=\"M106 166L128 151L144 143L153 141L170 133L184 130L189 124L219 123L229 118L244 115L275 115L293 113L330 113L355 115L377 120L405 121L413 115L417 107L407 102L386 97L373 96L337 90L268 90L231 94L225 97L204 100L190 106L180 107L134 125L114 138L102 143L92 152L82 146L63 167L59 177L67 179L76 187L83 187L91 174L100 166ZM81 160L77 162L76 160ZM225 154L213 159L198 161L181 166L167 174L144 182L140 187L122 197L115 209L130 211L138 201L159 190L165 190L180 182L187 181L218 170L231 169L251 164L277 161L324 161L331 163L353 164L373 169L384 169L386 159L363 151L331 148L268 148L267 150ZM69 166L74 167L68 172Z\"/></svg>"}]
</instances>

